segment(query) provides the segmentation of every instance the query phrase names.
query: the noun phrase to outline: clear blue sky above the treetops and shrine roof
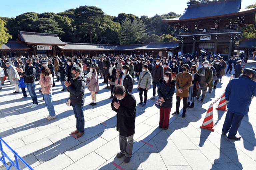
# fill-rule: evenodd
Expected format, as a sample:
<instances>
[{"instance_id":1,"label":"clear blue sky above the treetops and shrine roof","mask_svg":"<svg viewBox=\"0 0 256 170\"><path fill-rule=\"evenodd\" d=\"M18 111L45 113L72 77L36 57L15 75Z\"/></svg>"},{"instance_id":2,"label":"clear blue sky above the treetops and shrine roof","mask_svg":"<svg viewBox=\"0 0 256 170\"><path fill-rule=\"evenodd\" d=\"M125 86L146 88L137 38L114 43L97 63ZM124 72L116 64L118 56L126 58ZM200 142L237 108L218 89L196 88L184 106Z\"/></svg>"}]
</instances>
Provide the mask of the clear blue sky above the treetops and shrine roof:
<instances>
[{"instance_id":1,"label":"clear blue sky above the treetops and shrine roof","mask_svg":"<svg viewBox=\"0 0 256 170\"><path fill-rule=\"evenodd\" d=\"M107 15L120 13L134 14L138 17L175 12L183 14L189 0L1 0L0 16L16 17L26 12L63 12L79 5L96 6ZM242 0L242 9L256 3L256 0Z\"/></svg>"}]
</instances>

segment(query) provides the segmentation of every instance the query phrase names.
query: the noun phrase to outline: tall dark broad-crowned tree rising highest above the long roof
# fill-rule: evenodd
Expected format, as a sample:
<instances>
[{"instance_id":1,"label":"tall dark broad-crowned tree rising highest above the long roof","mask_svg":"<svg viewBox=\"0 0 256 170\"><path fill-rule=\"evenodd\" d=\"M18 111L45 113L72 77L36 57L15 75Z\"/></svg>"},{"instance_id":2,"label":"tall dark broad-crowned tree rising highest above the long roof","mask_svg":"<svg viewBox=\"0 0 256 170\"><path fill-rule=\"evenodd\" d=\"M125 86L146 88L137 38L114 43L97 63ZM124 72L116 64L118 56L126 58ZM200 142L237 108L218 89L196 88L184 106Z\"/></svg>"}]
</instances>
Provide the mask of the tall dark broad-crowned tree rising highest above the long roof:
<instances>
[{"instance_id":1,"label":"tall dark broad-crowned tree rising highest above the long roof","mask_svg":"<svg viewBox=\"0 0 256 170\"><path fill-rule=\"evenodd\" d=\"M85 40L89 35L90 43L93 43L93 36L99 32L99 25L103 21L104 12L95 6L79 6L75 10L74 24L76 26L76 36L78 39Z\"/></svg>"}]
</instances>

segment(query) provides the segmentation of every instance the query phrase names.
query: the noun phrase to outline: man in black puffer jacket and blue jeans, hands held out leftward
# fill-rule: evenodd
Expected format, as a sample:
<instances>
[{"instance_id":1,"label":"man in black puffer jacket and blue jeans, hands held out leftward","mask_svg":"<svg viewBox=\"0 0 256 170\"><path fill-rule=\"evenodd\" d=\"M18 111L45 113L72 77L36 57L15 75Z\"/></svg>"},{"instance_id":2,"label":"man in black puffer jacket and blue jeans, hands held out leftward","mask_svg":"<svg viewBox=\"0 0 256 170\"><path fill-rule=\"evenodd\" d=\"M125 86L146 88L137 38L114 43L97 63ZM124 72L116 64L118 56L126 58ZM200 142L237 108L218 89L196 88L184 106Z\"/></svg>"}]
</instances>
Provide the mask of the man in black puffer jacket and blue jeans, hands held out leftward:
<instances>
[{"instance_id":1,"label":"man in black puffer jacket and blue jeans, hands held out leftward","mask_svg":"<svg viewBox=\"0 0 256 170\"><path fill-rule=\"evenodd\" d=\"M18 72L22 73L25 76L25 83L28 89L28 92L32 98L33 103L29 105L31 108L38 106L37 96L35 92L35 80L36 80L36 68L32 65L32 58L26 60L27 70L24 72L21 68L16 68Z\"/></svg>"}]
</instances>

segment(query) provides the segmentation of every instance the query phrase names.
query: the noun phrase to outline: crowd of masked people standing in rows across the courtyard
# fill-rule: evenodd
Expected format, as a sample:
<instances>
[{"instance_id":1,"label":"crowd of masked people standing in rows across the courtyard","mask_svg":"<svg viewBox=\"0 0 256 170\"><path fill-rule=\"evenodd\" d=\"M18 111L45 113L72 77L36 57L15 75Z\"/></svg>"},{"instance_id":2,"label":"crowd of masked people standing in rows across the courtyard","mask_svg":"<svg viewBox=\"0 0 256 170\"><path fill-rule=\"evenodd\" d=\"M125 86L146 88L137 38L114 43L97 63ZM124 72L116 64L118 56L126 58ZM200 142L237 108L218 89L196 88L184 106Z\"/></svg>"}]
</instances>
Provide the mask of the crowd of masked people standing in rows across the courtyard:
<instances>
[{"instance_id":1,"label":"crowd of masked people standing in rows across the courtyard","mask_svg":"<svg viewBox=\"0 0 256 170\"><path fill-rule=\"evenodd\" d=\"M201 58L201 59L200 59ZM27 98L26 88L31 96L31 108L38 106L35 92L36 82L41 86L45 105L49 112L48 120L55 118L55 110L52 100L52 91L55 82L60 81L63 89L70 93L67 105L73 107L76 118L76 130L71 132L76 137L84 134L84 98L85 88L90 91L92 102L89 105L97 105L97 93L99 92L99 79L103 78L105 89L110 90L112 110L117 112L117 131L120 133L120 150L117 155L121 158L125 155L125 162L129 162L133 134L135 128L136 105L145 107L147 93L152 85L153 96L160 108L159 128L168 129L169 117L172 108L172 98L176 90L176 110L172 115L179 115L180 101L183 101L182 118L186 117L186 110L193 108L195 102L202 97L204 102L207 88L212 93L217 88L222 77L235 69L235 77L242 73L241 59L239 56L230 57L227 63L220 56L200 55L195 56L169 56L157 57L152 55L99 55L99 56L20 56L1 58L0 77L1 83L8 76L11 84L15 86L15 92L19 88L23 97ZM199 68L199 63L202 67ZM249 74L249 73L248 73ZM100 77L99 77L100 76ZM251 75L251 78L255 76ZM137 81L140 102L136 103L132 90ZM156 91L157 88L157 91ZM231 88L231 87L230 87ZM0 89L2 89L0 87ZM144 93L144 100L143 100ZM248 92L249 93L249 92ZM228 95L228 94L227 94ZM230 95L230 94L229 94ZM254 95L254 94L253 94ZM156 98L157 96L157 98ZM231 119L231 118L230 118ZM228 126L223 128L223 134ZM230 138L234 138L231 136Z\"/></svg>"}]
</instances>

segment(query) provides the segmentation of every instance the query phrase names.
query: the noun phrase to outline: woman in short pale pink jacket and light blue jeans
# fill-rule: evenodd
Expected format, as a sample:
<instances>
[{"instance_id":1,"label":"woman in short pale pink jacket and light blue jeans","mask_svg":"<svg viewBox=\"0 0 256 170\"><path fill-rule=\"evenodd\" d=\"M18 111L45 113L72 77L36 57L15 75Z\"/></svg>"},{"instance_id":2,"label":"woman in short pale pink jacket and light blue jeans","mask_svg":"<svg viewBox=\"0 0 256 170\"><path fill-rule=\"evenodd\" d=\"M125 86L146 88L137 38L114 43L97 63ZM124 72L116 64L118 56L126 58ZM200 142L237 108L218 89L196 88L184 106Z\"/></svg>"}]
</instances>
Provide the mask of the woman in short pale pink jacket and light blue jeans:
<instances>
[{"instance_id":1,"label":"woman in short pale pink jacket and light blue jeans","mask_svg":"<svg viewBox=\"0 0 256 170\"><path fill-rule=\"evenodd\" d=\"M47 107L47 110L49 111L49 116L47 116L46 119L52 120L55 118L55 110L52 104L53 77L48 67L43 67L41 69L39 84L41 85L45 105Z\"/></svg>"}]
</instances>

